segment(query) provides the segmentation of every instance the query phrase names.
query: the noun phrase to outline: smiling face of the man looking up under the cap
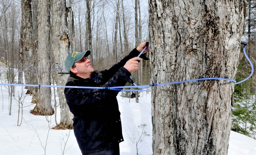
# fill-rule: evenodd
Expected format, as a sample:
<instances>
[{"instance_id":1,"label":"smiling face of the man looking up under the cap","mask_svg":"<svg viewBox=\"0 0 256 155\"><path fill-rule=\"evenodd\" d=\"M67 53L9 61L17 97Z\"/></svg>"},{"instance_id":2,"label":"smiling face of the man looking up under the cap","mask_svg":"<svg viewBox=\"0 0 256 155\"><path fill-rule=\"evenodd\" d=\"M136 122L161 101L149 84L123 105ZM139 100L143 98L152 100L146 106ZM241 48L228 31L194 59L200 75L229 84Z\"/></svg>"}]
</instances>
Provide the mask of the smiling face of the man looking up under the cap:
<instances>
[{"instance_id":1,"label":"smiling face of the man looking up under the cap","mask_svg":"<svg viewBox=\"0 0 256 155\"><path fill-rule=\"evenodd\" d=\"M90 78L92 72L94 71L91 66L91 60L87 59L85 56L81 60L75 62L75 66L76 67L73 68L73 70L70 70L82 78Z\"/></svg>"}]
</instances>

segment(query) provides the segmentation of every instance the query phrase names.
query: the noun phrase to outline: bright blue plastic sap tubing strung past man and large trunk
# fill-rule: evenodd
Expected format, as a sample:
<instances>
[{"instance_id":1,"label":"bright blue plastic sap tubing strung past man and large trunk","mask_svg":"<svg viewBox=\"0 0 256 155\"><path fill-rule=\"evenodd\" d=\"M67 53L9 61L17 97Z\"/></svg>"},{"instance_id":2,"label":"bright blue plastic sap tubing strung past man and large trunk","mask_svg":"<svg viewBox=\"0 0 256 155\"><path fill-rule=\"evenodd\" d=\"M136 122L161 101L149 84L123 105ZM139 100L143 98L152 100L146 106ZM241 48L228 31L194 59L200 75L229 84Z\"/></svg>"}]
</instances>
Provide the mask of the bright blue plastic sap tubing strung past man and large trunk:
<instances>
[{"instance_id":1,"label":"bright blue plastic sap tubing strung past man and large trunk","mask_svg":"<svg viewBox=\"0 0 256 155\"><path fill-rule=\"evenodd\" d=\"M143 49L143 51L141 53L144 52L144 50L147 47L145 47ZM140 54L141 54L140 53ZM86 89L108 89L108 90L118 90L118 91L150 91L150 90L132 90L132 89L122 89L122 88L139 88L139 89L145 89L148 87L153 87L153 86L161 86L161 85L168 85L168 84L179 84L179 83L185 83L185 82L191 82L191 81L202 81L202 80L226 80L226 81L233 81L235 82L235 84L239 84L242 83L244 81L246 81L247 79L249 79L252 74L253 74L253 65L252 65L252 61L249 59L249 57L247 56L247 54L245 53L245 46L244 46L244 55L246 57L246 59L250 62L251 67L252 67L252 72L251 74L244 80L236 82L236 80L233 79L226 79L226 78L201 78L201 79L193 79L193 80L185 80L185 81L177 81L177 82L168 82L168 83L159 83L159 84L155 84L152 83L150 85L141 85L141 86L123 86L123 87L80 87L80 86L53 86L53 85L32 85L32 84L8 84L8 83L0 83L0 85L8 85L8 86L28 86L28 87L57 87L57 88L86 88ZM140 55L139 55L140 56ZM56 69L56 68L55 68Z\"/></svg>"}]
</instances>

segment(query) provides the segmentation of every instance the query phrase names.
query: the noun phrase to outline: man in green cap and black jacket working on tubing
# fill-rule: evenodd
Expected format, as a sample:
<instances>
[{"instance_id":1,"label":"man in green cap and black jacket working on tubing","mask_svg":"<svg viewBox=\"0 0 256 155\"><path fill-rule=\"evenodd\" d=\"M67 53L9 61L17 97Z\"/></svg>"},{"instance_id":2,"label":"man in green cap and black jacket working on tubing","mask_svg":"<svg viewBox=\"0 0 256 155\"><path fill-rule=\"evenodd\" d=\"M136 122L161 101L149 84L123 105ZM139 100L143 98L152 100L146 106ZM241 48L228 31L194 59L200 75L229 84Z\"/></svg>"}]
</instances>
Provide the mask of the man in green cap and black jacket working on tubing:
<instances>
[{"instance_id":1,"label":"man in green cap and black jacket working on tubing","mask_svg":"<svg viewBox=\"0 0 256 155\"><path fill-rule=\"evenodd\" d=\"M70 53L65 68L71 74L66 86L114 87L133 83L130 75L139 67L136 57L146 46L141 43L129 55L108 70L94 71L91 60L83 53ZM149 52L148 48L143 52ZM140 57L145 57L142 54ZM74 134L83 155L119 155L124 141L116 96L119 91L108 89L65 88L65 97L74 114Z\"/></svg>"}]
</instances>

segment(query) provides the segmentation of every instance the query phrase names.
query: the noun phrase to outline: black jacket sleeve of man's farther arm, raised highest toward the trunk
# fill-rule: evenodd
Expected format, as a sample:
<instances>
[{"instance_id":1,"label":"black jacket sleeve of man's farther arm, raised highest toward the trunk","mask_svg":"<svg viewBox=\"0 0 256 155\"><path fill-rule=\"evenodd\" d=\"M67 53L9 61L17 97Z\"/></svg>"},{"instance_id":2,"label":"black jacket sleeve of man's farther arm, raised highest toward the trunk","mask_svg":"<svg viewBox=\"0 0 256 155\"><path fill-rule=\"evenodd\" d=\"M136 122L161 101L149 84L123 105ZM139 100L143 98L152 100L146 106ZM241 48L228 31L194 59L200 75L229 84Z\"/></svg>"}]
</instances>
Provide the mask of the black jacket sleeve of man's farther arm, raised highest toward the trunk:
<instances>
[{"instance_id":1,"label":"black jacket sleeve of man's farther arm, raised highest toward the trunk","mask_svg":"<svg viewBox=\"0 0 256 155\"><path fill-rule=\"evenodd\" d=\"M109 69L105 69L103 71L100 71L101 74L103 74L104 79L108 80L110 79L121 67L123 67L125 65L125 63L134 58L137 57L140 54L139 51L137 51L136 48L134 48L127 56L125 56L120 62L118 62L117 64L113 65L111 68ZM144 54L140 55L140 58L143 58L145 60L148 60Z\"/></svg>"}]
</instances>

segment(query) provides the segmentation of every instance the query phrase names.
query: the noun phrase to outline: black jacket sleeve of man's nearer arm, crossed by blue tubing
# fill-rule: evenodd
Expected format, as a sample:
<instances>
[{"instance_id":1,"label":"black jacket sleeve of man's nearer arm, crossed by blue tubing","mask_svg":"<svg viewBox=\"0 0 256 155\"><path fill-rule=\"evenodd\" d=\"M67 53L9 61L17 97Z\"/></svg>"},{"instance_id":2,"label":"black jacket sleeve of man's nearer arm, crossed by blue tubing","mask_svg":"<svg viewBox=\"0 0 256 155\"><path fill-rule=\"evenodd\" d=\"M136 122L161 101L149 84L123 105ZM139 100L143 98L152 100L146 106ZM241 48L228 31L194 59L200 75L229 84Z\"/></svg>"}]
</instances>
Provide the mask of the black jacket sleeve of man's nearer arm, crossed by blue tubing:
<instances>
[{"instance_id":1,"label":"black jacket sleeve of man's nearer arm, crossed by blue tubing","mask_svg":"<svg viewBox=\"0 0 256 155\"><path fill-rule=\"evenodd\" d=\"M116 74L110 78L102 87L124 86L126 79L131 73L121 67ZM70 81L66 86L84 86L79 80ZM70 107L70 111L74 109L83 110L85 107L88 109L95 107L102 107L107 104L106 98L116 96L119 91L109 89L84 89L84 88L65 88L65 97ZM102 102L103 101L103 102Z\"/></svg>"}]
</instances>

